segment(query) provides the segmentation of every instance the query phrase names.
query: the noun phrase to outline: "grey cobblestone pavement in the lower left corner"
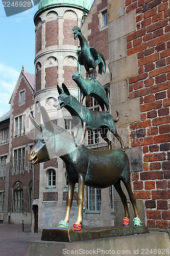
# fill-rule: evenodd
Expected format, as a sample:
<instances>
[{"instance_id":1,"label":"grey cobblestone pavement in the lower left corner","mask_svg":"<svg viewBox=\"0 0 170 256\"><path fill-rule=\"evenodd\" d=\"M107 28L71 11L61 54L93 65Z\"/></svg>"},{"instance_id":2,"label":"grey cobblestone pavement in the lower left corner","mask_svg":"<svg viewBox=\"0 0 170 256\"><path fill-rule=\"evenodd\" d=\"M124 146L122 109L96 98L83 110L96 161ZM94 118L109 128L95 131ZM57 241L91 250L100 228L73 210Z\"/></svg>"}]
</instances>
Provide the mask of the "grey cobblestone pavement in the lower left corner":
<instances>
[{"instance_id":1,"label":"grey cobblestone pavement in the lower left corner","mask_svg":"<svg viewBox=\"0 0 170 256\"><path fill-rule=\"evenodd\" d=\"M31 226L0 224L0 256L25 256L30 241L41 240L41 234L31 233Z\"/></svg>"}]
</instances>

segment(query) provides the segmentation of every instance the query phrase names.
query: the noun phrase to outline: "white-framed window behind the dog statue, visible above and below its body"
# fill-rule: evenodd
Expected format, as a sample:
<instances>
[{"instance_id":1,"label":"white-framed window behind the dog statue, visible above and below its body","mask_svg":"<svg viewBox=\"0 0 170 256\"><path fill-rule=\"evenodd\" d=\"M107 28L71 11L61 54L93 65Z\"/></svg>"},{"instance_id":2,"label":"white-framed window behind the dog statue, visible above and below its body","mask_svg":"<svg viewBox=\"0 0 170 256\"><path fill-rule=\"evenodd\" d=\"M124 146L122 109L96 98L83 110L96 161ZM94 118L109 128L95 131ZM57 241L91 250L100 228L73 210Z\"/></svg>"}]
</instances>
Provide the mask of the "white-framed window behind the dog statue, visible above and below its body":
<instances>
[{"instance_id":1,"label":"white-framed window behind the dog statue, visible above and below its body","mask_svg":"<svg viewBox=\"0 0 170 256\"><path fill-rule=\"evenodd\" d=\"M89 109L93 111L100 111L100 106L98 101L96 101L93 97L89 97ZM88 131L87 134L87 144L93 145L99 143L99 130Z\"/></svg>"}]
</instances>

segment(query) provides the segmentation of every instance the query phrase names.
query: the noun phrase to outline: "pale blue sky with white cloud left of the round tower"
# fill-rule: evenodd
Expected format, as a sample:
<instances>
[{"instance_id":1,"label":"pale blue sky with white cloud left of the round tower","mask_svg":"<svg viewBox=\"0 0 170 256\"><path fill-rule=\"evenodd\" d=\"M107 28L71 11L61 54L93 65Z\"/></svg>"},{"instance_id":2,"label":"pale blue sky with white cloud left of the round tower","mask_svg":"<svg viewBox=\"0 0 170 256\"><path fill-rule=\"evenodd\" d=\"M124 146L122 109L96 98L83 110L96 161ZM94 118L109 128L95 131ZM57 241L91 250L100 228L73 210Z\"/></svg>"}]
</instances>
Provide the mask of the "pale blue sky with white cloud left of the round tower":
<instances>
[{"instance_id":1,"label":"pale blue sky with white cloud left of the round tower","mask_svg":"<svg viewBox=\"0 0 170 256\"><path fill-rule=\"evenodd\" d=\"M7 17L3 3L0 1L0 117L10 110L9 100L22 65L25 66L27 72L34 74L35 26L33 18L37 10L38 5L20 14Z\"/></svg>"}]
</instances>

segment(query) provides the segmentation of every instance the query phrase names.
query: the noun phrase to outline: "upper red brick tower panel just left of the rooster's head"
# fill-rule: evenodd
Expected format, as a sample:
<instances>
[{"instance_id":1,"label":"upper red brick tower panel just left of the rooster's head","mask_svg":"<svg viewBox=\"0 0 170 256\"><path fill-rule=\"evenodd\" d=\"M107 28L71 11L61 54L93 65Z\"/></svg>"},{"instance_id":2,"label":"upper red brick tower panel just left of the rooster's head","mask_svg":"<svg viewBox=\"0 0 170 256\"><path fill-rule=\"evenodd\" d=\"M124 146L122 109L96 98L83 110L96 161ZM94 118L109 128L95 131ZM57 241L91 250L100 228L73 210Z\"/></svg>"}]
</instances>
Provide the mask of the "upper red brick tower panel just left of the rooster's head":
<instances>
[{"instance_id":1,"label":"upper red brick tower panel just left of the rooster's head","mask_svg":"<svg viewBox=\"0 0 170 256\"><path fill-rule=\"evenodd\" d=\"M64 23L63 23L63 35L64 35L63 44L64 45L78 46L78 40L75 40L72 34L72 28L74 26L77 26L77 20L64 19Z\"/></svg>"}]
</instances>

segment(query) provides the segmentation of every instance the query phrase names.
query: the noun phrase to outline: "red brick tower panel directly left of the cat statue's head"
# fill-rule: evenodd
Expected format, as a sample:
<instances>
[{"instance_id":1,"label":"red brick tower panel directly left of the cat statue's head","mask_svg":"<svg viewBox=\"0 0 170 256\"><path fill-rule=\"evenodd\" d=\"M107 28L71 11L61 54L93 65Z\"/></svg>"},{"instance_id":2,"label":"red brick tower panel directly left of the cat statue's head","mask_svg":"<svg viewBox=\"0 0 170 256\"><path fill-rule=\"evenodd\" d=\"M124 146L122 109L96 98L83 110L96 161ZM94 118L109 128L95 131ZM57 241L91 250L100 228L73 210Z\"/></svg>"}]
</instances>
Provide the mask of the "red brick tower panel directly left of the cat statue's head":
<instances>
[{"instance_id":1,"label":"red brick tower panel directly left of the cat statue's head","mask_svg":"<svg viewBox=\"0 0 170 256\"><path fill-rule=\"evenodd\" d=\"M63 66L64 74L64 83L66 86L74 86L77 87L77 84L74 80L72 80L72 74L76 73L78 71L77 67L70 67L70 66Z\"/></svg>"}]
</instances>

